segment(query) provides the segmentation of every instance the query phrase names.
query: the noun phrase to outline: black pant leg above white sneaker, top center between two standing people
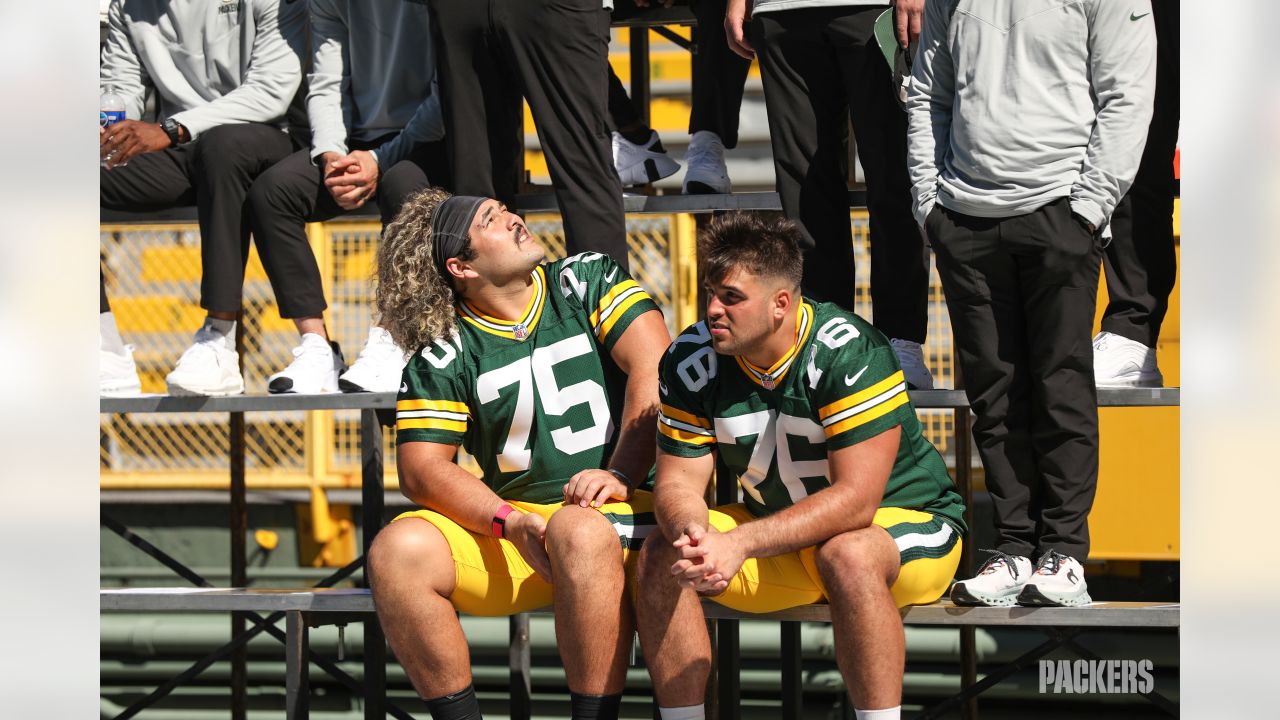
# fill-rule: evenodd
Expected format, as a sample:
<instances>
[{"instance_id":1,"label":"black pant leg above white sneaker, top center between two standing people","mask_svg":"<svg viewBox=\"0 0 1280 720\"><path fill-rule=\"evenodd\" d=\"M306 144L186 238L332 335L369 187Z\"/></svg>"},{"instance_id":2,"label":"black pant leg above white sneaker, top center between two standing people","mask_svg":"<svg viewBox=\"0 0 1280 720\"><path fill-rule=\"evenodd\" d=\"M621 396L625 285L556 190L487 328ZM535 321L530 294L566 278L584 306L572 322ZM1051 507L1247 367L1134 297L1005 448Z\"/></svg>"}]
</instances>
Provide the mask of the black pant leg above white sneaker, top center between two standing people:
<instances>
[{"instance_id":1,"label":"black pant leg above white sneaker, top center between two standing people","mask_svg":"<svg viewBox=\"0 0 1280 720\"><path fill-rule=\"evenodd\" d=\"M726 0L690 0L698 18L692 56L692 108L689 135L710 131L724 147L737 147L737 123L742 109L742 87L751 61L728 49L724 38Z\"/></svg>"}]
</instances>

